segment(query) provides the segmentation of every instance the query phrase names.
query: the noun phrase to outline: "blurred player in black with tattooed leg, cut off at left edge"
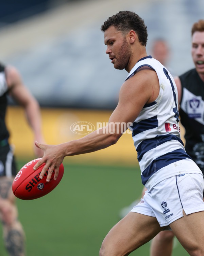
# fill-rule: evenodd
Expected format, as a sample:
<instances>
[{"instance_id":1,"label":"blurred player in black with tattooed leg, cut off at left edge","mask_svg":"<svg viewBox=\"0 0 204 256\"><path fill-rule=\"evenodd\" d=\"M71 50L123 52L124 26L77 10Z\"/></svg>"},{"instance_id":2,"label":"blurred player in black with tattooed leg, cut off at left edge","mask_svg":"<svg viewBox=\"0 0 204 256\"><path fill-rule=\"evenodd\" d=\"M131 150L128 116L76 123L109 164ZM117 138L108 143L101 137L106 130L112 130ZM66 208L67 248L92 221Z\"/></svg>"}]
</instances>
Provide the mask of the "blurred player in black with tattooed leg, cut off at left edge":
<instances>
[{"instance_id":1,"label":"blurred player in black with tattooed leg, cut off at left edge","mask_svg":"<svg viewBox=\"0 0 204 256\"><path fill-rule=\"evenodd\" d=\"M38 102L23 85L17 69L0 64L0 219L8 254L24 256L26 255L25 236L18 220L18 210L12 192L12 183L17 170L13 149L9 144L9 132L5 124L7 95L13 97L24 108L26 119L34 133L34 139L42 142L44 140ZM35 150L36 156L42 156L42 153L39 148Z\"/></svg>"}]
</instances>

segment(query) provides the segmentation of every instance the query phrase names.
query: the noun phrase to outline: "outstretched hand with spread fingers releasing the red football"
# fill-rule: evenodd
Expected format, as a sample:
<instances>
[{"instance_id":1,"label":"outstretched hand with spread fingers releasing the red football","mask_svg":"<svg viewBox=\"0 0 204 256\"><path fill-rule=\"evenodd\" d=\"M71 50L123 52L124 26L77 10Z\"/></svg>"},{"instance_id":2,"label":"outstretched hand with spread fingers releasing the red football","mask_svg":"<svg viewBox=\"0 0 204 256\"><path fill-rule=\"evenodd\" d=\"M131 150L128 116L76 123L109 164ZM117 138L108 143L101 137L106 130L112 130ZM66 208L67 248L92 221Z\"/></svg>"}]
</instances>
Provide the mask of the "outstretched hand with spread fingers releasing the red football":
<instances>
[{"instance_id":1,"label":"outstretched hand with spread fingers releasing the red football","mask_svg":"<svg viewBox=\"0 0 204 256\"><path fill-rule=\"evenodd\" d=\"M34 170L36 170L39 166L41 166L43 163L45 163L44 168L42 169L40 173L40 179L43 179L44 174L48 170L47 175L47 182L50 181L52 172L54 170L54 180L57 179L59 168L61 163L63 162L64 155L62 153L61 144L59 145L46 145L41 144L35 141L36 147L40 148L44 152L44 156L36 163L36 165L33 167Z\"/></svg>"}]
</instances>

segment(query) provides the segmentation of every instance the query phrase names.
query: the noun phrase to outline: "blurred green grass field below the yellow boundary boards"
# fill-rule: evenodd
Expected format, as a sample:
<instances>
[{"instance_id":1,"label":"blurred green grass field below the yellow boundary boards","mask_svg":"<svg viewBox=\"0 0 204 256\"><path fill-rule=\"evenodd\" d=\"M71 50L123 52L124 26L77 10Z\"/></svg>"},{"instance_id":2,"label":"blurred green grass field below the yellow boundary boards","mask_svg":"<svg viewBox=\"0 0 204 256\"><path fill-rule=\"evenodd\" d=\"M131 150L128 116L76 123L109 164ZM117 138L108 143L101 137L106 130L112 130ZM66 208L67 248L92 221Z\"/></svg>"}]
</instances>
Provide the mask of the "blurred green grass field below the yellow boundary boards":
<instances>
[{"instance_id":1,"label":"blurred green grass field below the yellow boundary boards","mask_svg":"<svg viewBox=\"0 0 204 256\"><path fill-rule=\"evenodd\" d=\"M19 161L19 169L25 163ZM62 181L50 194L17 200L28 256L99 255L105 235L119 221L120 209L140 196L140 171L134 167L64 167ZM0 256L7 256L2 240L0 248ZM131 255L148 256L149 248L150 242ZM172 256L180 255L189 254L176 242Z\"/></svg>"}]
</instances>

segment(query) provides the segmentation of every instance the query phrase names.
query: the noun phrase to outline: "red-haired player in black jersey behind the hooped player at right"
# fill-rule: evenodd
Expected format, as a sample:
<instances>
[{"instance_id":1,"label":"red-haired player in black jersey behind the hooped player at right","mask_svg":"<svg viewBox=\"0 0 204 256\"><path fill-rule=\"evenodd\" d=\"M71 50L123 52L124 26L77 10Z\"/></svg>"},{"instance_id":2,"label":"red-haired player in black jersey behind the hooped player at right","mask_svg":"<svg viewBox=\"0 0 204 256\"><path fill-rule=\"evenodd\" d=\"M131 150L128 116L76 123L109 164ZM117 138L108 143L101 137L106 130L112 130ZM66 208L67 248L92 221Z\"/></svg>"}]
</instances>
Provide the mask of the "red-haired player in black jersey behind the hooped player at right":
<instances>
[{"instance_id":1,"label":"red-haired player in black jersey behind the hooped player at right","mask_svg":"<svg viewBox=\"0 0 204 256\"><path fill-rule=\"evenodd\" d=\"M180 102L181 123L185 128L185 150L204 174L204 20L191 29L191 55L195 68L175 77ZM171 256L174 234L160 232L151 243L151 256Z\"/></svg>"}]
</instances>

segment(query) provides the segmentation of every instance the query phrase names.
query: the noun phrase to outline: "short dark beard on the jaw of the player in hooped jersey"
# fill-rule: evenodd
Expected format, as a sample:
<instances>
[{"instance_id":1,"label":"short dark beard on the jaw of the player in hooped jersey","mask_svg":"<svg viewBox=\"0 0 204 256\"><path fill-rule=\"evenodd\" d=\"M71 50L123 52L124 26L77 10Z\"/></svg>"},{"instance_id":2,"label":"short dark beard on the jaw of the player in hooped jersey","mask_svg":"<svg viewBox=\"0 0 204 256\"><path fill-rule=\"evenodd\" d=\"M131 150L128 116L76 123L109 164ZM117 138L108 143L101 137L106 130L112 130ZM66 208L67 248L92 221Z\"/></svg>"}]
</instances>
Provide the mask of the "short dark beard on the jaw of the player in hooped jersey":
<instances>
[{"instance_id":1,"label":"short dark beard on the jaw of the player in hooped jersey","mask_svg":"<svg viewBox=\"0 0 204 256\"><path fill-rule=\"evenodd\" d=\"M118 52L116 62L114 63L114 68L120 70L125 69L128 66L131 55L131 46L126 41L126 38L124 38L123 43Z\"/></svg>"}]
</instances>

